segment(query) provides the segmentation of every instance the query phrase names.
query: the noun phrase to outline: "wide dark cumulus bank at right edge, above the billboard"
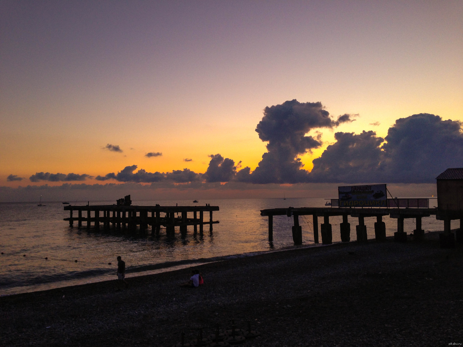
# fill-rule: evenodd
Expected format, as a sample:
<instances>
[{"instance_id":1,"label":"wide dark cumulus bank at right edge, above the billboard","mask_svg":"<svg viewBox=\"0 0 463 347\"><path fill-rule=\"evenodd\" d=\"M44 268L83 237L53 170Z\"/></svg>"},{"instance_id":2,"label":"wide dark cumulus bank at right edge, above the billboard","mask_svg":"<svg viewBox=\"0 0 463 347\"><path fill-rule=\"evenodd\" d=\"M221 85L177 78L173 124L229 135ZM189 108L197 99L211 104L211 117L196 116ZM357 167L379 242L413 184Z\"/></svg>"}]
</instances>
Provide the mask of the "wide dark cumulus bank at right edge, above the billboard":
<instances>
[{"instance_id":1,"label":"wide dark cumulus bank at right edge, above the billboard","mask_svg":"<svg viewBox=\"0 0 463 347\"><path fill-rule=\"evenodd\" d=\"M446 168L463 167L461 122L428 113L397 119L384 139L373 131L335 138L313 160L311 180L432 183Z\"/></svg>"}]
</instances>

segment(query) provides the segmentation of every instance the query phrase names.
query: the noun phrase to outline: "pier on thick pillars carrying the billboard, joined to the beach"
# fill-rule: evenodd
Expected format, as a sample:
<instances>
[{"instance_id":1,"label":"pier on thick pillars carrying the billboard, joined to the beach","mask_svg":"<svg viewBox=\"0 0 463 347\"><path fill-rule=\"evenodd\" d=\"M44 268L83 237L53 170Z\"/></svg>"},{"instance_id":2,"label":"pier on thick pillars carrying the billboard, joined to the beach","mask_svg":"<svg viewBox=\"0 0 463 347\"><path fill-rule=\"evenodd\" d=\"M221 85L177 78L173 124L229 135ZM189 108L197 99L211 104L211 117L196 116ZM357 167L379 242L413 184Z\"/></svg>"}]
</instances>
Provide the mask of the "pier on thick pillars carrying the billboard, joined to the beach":
<instances>
[{"instance_id":1,"label":"pier on thick pillars carrying the billboard, joined to the beach","mask_svg":"<svg viewBox=\"0 0 463 347\"><path fill-rule=\"evenodd\" d=\"M376 240L386 239L386 225L382 221L382 217L389 215L391 218L396 218L397 232L394 233L395 241L407 241L407 233L404 231L404 219L415 218L416 229L413 230L413 237L419 241L424 238L425 234L425 231L421 229L421 218L436 214L437 209L435 208L288 207L261 210L261 216L269 217L269 242L273 241L273 216L293 216L293 241L296 245L302 244L302 228L299 225L299 216L313 216L313 240L315 243L319 243L318 217L323 217L323 223L320 224L322 243L329 244L332 243L332 225L330 224L330 217L332 216L343 217L343 222L339 224L342 242L350 241L350 223L347 222L348 216L358 218L358 225L356 225L357 241L367 242L367 227L364 222L364 218L366 217L376 217Z\"/></svg>"}]
</instances>

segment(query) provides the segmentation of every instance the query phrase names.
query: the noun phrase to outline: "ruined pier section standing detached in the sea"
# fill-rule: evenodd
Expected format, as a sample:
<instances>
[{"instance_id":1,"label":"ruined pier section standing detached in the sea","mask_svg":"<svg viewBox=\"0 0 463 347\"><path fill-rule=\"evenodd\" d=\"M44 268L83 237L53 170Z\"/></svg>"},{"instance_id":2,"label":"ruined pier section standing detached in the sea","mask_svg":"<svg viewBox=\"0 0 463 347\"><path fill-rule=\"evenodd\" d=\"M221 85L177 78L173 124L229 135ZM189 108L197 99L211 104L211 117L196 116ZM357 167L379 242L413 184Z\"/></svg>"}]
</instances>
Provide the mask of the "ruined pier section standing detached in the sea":
<instances>
[{"instance_id":1,"label":"ruined pier section standing detached in the sea","mask_svg":"<svg viewBox=\"0 0 463 347\"><path fill-rule=\"evenodd\" d=\"M129 196L130 197L130 196ZM194 231L199 226L200 233L203 232L204 224L209 224L212 231L213 224L219 223L212 217L213 211L219 211L219 206L132 206L132 205L84 205L84 206L64 206L65 211L69 211L69 226L74 226L77 222L79 228L85 224L90 228L103 227L109 229L111 226L117 229L127 228L146 230L151 226L153 233L159 235L161 226L166 228L168 237L175 235L175 227L180 227L182 234L187 232L188 225L193 225ZM209 220L204 221L204 214L209 212ZM188 216L188 214L190 216Z\"/></svg>"}]
</instances>

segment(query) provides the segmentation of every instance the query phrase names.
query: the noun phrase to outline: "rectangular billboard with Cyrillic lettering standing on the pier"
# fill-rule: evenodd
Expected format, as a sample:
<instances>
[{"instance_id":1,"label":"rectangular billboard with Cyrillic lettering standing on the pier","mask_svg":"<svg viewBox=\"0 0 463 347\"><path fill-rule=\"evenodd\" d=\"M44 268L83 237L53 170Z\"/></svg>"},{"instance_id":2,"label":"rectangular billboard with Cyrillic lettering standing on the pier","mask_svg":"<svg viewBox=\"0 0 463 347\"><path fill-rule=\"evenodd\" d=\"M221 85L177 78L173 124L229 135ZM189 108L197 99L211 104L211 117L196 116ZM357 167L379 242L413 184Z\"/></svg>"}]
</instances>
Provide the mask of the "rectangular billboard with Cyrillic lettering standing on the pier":
<instances>
[{"instance_id":1,"label":"rectangular billboard with Cyrillic lettering standing on the pier","mask_svg":"<svg viewBox=\"0 0 463 347\"><path fill-rule=\"evenodd\" d=\"M339 207L388 207L386 185L338 187Z\"/></svg>"}]
</instances>

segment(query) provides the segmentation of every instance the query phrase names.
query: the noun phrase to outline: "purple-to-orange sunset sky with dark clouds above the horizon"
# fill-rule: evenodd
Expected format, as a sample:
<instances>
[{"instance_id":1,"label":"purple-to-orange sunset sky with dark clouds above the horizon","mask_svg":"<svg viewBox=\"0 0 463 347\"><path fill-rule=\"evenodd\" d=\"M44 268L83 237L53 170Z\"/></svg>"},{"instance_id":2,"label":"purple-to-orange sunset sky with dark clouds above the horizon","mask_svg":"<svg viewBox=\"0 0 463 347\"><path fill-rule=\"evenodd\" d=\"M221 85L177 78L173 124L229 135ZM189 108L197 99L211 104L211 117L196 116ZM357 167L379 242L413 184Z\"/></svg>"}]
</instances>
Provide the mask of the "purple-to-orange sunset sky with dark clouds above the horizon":
<instances>
[{"instance_id":1,"label":"purple-to-orange sunset sky with dark clouds above the horizon","mask_svg":"<svg viewBox=\"0 0 463 347\"><path fill-rule=\"evenodd\" d=\"M1 1L0 201L435 183L463 167L462 18L460 0Z\"/></svg>"}]
</instances>

